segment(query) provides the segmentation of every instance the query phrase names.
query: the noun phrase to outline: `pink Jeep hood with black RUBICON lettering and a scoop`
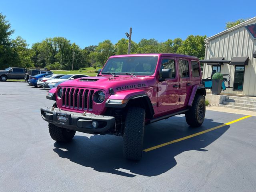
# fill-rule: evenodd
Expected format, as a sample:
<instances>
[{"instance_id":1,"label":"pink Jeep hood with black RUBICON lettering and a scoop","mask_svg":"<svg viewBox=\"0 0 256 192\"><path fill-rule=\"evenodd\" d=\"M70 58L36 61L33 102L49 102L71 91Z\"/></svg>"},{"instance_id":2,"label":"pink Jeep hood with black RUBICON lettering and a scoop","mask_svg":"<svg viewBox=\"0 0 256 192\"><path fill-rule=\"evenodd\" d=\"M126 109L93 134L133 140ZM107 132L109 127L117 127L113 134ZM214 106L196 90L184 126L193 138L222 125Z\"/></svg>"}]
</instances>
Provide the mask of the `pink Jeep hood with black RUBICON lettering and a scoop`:
<instances>
[{"instance_id":1,"label":"pink Jeep hood with black RUBICON lettering and a scoop","mask_svg":"<svg viewBox=\"0 0 256 192\"><path fill-rule=\"evenodd\" d=\"M95 76L69 80L61 83L60 86L103 89L106 92L108 92L109 88L112 88L114 92L118 92L148 87L148 80L152 79L154 77Z\"/></svg>"}]
</instances>

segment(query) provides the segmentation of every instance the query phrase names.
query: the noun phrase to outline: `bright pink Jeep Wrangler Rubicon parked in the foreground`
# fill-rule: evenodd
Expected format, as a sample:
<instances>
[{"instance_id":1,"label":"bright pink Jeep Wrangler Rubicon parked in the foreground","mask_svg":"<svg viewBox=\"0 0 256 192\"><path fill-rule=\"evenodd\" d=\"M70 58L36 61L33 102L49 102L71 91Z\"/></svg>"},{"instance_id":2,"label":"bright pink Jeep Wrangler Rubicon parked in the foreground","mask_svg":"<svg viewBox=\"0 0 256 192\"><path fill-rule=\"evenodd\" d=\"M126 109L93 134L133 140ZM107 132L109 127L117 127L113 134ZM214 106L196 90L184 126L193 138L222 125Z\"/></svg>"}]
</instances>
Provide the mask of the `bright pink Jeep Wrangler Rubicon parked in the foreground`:
<instances>
[{"instance_id":1,"label":"bright pink Jeep Wrangler Rubicon parked in the foreground","mask_svg":"<svg viewBox=\"0 0 256 192\"><path fill-rule=\"evenodd\" d=\"M111 56L95 77L60 84L41 108L53 140L68 142L76 131L123 136L123 154L142 157L146 124L178 114L192 127L205 116L206 91L198 58L179 54Z\"/></svg>"}]
</instances>

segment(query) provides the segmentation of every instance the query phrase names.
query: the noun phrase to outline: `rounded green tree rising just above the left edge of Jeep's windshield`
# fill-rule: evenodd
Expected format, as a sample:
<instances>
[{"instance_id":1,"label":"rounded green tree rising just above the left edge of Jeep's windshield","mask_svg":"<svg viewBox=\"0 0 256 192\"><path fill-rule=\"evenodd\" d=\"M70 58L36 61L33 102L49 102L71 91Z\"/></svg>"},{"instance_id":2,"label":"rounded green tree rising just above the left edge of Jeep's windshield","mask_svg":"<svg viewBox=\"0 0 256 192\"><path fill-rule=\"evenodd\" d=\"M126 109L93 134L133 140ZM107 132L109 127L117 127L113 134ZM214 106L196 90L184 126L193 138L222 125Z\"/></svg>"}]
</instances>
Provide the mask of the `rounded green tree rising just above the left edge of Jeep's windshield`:
<instances>
[{"instance_id":1,"label":"rounded green tree rising just above the left edge of Jeep's windshield","mask_svg":"<svg viewBox=\"0 0 256 192\"><path fill-rule=\"evenodd\" d=\"M106 63L108 57L114 55L114 45L110 40L105 40L103 42L100 42L98 44L98 47L96 48L97 54L97 60L102 66Z\"/></svg>"}]
</instances>

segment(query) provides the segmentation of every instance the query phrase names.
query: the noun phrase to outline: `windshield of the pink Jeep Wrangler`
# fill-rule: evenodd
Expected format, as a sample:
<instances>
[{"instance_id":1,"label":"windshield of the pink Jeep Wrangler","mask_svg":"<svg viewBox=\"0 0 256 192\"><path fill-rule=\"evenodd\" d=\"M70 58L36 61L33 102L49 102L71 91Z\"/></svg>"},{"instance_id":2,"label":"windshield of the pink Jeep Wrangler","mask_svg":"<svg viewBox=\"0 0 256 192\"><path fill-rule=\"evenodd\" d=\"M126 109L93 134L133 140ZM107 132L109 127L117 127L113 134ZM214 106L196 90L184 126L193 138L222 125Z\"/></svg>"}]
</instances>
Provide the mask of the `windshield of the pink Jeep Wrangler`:
<instances>
[{"instance_id":1,"label":"windshield of the pink Jeep Wrangler","mask_svg":"<svg viewBox=\"0 0 256 192\"><path fill-rule=\"evenodd\" d=\"M152 75L155 72L157 56L134 56L110 58L101 74Z\"/></svg>"}]
</instances>

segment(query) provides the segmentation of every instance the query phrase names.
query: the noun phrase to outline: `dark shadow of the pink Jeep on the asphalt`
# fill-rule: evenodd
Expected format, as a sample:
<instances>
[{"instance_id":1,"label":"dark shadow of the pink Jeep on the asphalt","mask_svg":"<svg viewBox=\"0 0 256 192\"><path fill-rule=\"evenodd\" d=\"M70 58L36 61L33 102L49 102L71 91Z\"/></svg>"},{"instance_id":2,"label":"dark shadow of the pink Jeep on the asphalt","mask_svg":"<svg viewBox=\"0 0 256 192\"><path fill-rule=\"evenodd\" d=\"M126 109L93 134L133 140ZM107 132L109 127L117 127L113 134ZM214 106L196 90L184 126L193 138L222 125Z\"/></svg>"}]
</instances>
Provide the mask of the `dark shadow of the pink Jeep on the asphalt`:
<instances>
[{"instance_id":1,"label":"dark shadow of the pink Jeep on the asphalt","mask_svg":"<svg viewBox=\"0 0 256 192\"><path fill-rule=\"evenodd\" d=\"M194 129L186 125L185 121L184 116L175 116L147 125L145 127L144 148L176 140L222 124L214 122L212 119L205 119L205 126ZM93 135L90 138L75 136L70 143L55 142L53 150L61 158L69 159L84 167L93 168L98 172L126 177L137 175L150 177L165 173L176 166L179 163L176 162L176 156L183 152L190 150L206 152L207 150L204 148L222 136L229 127L225 126L156 150L143 152L144 158L139 163L122 158L122 138L115 136Z\"/></svg>"}]
</instances>

